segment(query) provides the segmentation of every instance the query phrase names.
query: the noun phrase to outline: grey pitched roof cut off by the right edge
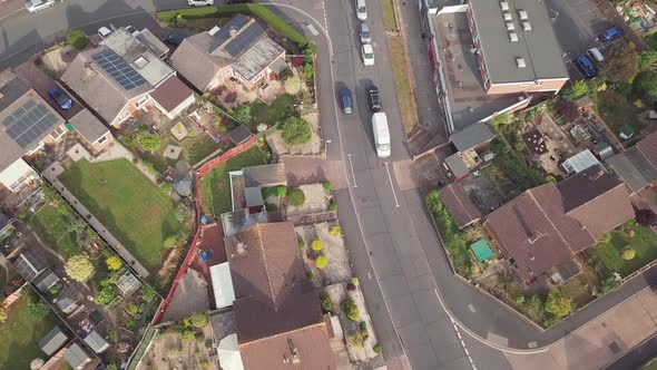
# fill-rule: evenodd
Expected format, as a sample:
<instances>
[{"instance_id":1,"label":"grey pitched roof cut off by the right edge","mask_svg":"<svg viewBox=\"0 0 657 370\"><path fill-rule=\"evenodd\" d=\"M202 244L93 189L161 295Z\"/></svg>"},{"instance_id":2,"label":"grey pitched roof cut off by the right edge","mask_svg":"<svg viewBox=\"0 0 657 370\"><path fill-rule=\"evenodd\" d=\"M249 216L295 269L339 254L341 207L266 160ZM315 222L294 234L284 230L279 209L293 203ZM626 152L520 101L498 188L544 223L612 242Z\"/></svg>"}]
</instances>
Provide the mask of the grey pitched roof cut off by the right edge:
<instances>
[{"instance_id":1,"label":"grey pitched roof cut off by the right edge","mask_svg":"<svg viewBox=\"0 0 657 370\"><path fill-rule=\"evenodd\" d=\"M612 156L606 163L633 193L657 182L657 167L646 158L638 146Z\"/></svg>"}]
</instances>

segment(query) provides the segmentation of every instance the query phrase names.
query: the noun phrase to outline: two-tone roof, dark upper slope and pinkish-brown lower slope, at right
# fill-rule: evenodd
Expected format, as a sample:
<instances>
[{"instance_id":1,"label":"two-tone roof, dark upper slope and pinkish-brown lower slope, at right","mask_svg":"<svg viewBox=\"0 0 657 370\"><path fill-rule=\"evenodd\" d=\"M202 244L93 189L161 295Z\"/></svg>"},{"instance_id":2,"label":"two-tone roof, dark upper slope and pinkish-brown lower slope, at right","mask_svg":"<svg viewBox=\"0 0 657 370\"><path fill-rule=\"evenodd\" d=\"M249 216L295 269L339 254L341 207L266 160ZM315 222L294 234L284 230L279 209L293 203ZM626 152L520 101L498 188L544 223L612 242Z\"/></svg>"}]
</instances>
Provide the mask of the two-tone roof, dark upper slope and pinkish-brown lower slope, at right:
<instances>
[{"instance_id":1,"label":"two-tone roof, dark upper slope and pinkish-brown lower slope, at right","mask_svg":"<svg viewBox=\"0 0 657 370\"><path fill-rule=\"evenodd\" d=\"M634 218L629 192L601 166L589 167L557 184L566 213L579 221L594 237Z\"/></svg>"}]
</instances>

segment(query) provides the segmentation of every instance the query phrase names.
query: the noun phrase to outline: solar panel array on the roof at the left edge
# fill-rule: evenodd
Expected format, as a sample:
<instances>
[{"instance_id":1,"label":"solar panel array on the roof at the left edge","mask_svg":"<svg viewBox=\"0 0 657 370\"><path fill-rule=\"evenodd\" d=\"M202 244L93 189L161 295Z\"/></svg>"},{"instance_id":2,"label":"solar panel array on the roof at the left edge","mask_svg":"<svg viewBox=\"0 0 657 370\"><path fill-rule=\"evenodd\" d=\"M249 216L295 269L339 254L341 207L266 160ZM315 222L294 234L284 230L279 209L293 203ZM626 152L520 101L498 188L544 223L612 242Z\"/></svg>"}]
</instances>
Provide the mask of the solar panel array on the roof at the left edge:
<instances>
[{"instance_id":1,"label":"solar panel array on the roof at the left edge","mask_svg":"<svg viewBox=\"0 0 657 370\"><path fill-rule=\"evenodd\" d=\"M2 120L4 132L21 148L32 145L37 139L52 129L57 117L43 104L29 99Z\"/></svg>"}]
</instances>

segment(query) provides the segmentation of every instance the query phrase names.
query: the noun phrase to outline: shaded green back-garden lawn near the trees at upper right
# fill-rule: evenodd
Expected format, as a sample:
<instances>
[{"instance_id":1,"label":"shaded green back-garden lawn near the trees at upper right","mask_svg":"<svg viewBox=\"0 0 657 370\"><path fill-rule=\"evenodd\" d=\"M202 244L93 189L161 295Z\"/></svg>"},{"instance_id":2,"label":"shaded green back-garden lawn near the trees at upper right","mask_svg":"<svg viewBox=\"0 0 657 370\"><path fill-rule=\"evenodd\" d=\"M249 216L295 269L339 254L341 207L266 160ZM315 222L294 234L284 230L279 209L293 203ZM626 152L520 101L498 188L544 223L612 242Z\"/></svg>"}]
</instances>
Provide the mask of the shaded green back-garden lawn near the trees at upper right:
<instances>
[{"instance_id":1,"label":"shaded green back-garden lawn near the trees at upper right","mask_svg":"<svg viewBox=\"0 0 657 370\"><path fill-rule=\"evenodd\" d=\"M631 126L637 133L641 123L637 118L639 109L620 93L607 89L598 93L598 113L607 126L618 136L624 126Z\"/></svg>"}]
</instances>

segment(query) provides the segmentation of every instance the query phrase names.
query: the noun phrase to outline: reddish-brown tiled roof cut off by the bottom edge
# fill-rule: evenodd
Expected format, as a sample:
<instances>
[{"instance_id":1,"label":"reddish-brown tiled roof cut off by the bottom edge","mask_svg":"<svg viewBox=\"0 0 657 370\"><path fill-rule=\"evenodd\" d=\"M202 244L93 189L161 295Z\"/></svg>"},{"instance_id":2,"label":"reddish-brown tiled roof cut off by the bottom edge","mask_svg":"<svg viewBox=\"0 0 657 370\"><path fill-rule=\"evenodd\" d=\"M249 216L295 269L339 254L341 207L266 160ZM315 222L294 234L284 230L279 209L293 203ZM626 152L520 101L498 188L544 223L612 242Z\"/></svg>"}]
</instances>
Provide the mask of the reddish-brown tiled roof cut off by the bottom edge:
<instances>
[{"instance_id":1,"label":"reddish-brown tiled roof cut off by the bottom edge","mask_svg":"<svg viewBox=\"0 0 657 370\"><path fill-rule=\"evenodd\" d=\"M248 370L336 368L323 322L242 344L239 353L244 368Z\"/></svg>"}]
</instances>

